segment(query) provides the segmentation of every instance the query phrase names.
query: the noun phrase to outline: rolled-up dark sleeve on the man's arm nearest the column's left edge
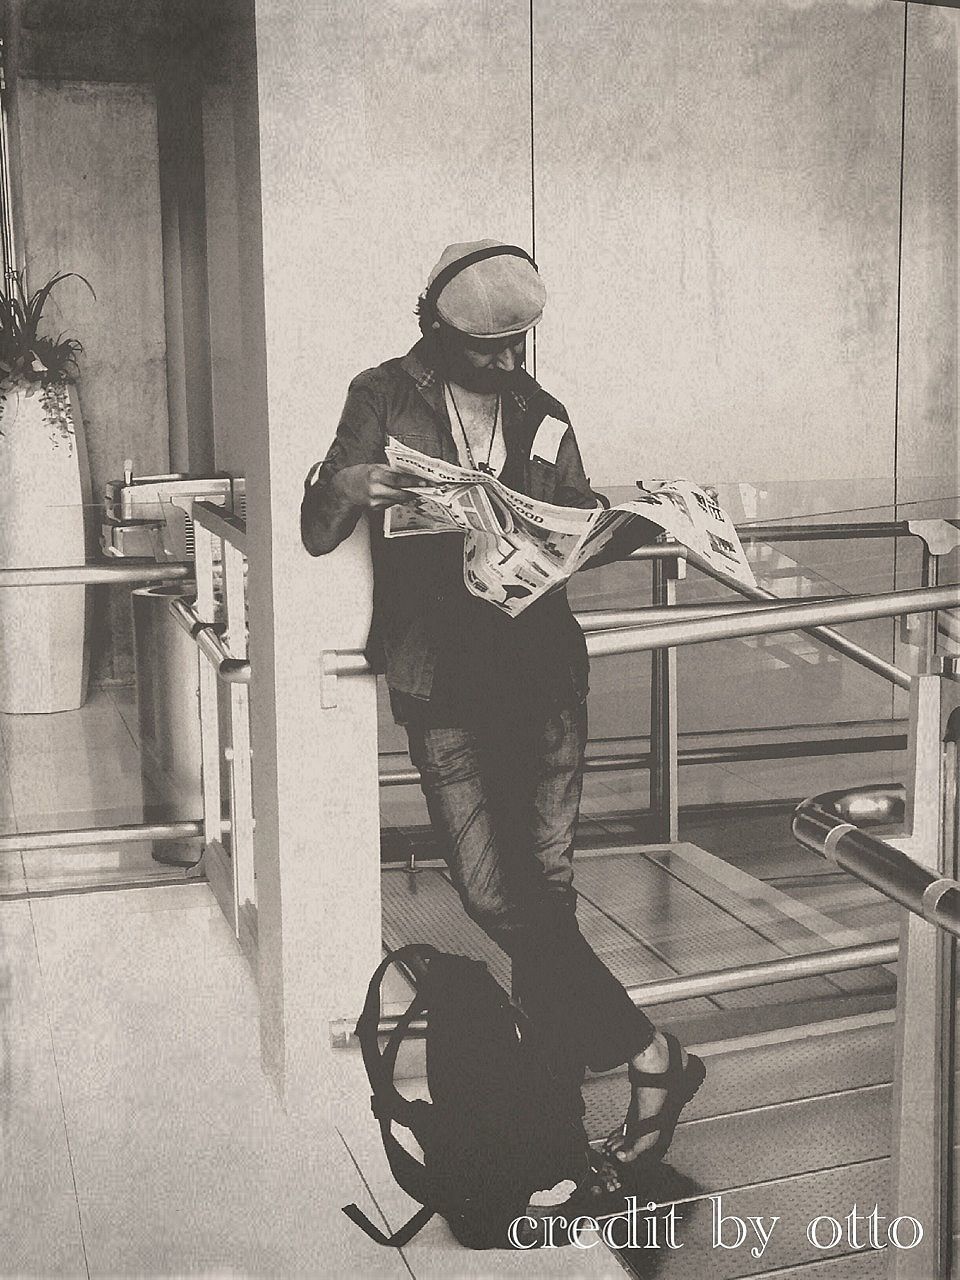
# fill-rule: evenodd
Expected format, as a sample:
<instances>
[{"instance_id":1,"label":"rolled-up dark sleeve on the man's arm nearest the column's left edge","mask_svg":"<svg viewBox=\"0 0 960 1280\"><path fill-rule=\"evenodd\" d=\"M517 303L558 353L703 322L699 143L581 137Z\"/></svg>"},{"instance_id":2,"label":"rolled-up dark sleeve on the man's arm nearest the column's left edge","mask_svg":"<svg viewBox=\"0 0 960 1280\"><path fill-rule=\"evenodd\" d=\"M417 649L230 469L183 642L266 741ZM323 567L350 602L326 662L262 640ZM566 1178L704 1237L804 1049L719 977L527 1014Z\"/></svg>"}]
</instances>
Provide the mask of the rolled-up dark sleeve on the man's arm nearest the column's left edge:
<instances>
[{"instance_id":1,"label":"rolled-up dark sleeve on the man's arm nearest the column's left edge","mask_svg":"<svg viewBox=\"0 0 960 1280\"><path fill-rule=\"evenodd\" d=\"M384 462L384 397L374 370L349 384L333 444L303 481L300 536L311 556L325 556L348 538L362 507L347 502L333 484L344 467Z\"/></svg>"}]
</instances>

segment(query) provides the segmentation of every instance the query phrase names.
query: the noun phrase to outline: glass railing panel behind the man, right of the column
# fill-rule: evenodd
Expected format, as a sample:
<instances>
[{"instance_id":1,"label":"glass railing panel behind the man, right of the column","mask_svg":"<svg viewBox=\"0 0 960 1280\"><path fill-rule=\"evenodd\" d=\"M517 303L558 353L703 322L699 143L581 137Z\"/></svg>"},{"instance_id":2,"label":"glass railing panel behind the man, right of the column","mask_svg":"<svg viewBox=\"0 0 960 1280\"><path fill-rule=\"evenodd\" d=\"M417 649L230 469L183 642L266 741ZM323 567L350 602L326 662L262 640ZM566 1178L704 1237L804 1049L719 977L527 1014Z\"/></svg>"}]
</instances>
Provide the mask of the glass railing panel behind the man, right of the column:
<instances>
[{"instance_id":1,"label":"glass railing panel behind the man, right of the column","mask_svg":"<svg viewBox=\"0 0 960 1280\"><path fill-rule=\"evenodd\" d=\"M925 492L937 489L931 483ZM625 500L632 490L607 493L612 500ZM745 536L758 525L877 524L906 521L918 513L923 518L956 517L960 511L952 494L916 498L895 507L892 485L878 480L721 484L719 498ZM783 535L749 543L748 554L762 588L795 599L922 585L922 545L916 539L858 536L814 541ZM956 554L943 557L941 581L956 580ZM628 562L575 576L568 594L575 609L617 609L648 604L650 589L649 563ZM681 604L737 599L724 585L695 568L687 570L677 588ZM908 672L918 667L916 645L910 643L909 634L901 636L899 620L850 623L840 630L868 652L888 662L896 659ZM941 643L951 644L948 637L941 637ZM650 662L648 653L594 660L593 754L639 755L646 750ZM726 750L737 745L758 749L764 741L782 745L804 737L876 739L905 732L906 699L900 690L805 634L685 646L678 650L677 668L681 749ZM381 727L381 750L397 763L404 742L392 724L383 690ZM681 769L681 803L795 800L831 786L902 780L904 767L902 750L792 755L749 763L724 760L717 768L698 763ZM596 809L591 791L613 806L608 815L634 813L649 803L645 769L604 773L588 782L585 812L603 813ZM393 800L399 796L394 794ZM412 791L410 801L415 812ZM392 800L385 797L385 820L390 822Z\"/></svg>"}]
</instances>

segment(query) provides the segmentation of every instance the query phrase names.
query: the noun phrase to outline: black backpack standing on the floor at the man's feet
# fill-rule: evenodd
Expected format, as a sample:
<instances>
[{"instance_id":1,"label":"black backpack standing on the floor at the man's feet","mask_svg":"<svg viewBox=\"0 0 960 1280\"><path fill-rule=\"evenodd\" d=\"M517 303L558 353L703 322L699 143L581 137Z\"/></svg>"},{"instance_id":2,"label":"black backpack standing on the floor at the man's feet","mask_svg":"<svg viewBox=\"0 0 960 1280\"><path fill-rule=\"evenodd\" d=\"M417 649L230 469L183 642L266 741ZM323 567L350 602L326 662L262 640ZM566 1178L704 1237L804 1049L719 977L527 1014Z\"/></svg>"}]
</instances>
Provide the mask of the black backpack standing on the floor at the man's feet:
<instances>
[{"instance_id":1,"label":"black backpack standing on the floor at the man's feet","mask_svg":"<svg viewBox=\"0 0 960 1280\"><path fill-rule=\"evenodd\" d=\"M380 982L390 964L410 966L416 996L380 1052ZM397 1053L410 1024L426 1015L430 1102L394 1085ZM461 1244L508 1248L508 1228L532 1192L584 1174L582 1129L561 1119L561 1100L535 1036L485 964L413 943L387 956L370 980L357 1023L370 1105L399 1185L424 1207L387 1236L356 1204L343 1212L379 1244L407 1244L442 1215ZM404 1125L422 1162L397 1140Z\"/></svg>"}]
</instances>

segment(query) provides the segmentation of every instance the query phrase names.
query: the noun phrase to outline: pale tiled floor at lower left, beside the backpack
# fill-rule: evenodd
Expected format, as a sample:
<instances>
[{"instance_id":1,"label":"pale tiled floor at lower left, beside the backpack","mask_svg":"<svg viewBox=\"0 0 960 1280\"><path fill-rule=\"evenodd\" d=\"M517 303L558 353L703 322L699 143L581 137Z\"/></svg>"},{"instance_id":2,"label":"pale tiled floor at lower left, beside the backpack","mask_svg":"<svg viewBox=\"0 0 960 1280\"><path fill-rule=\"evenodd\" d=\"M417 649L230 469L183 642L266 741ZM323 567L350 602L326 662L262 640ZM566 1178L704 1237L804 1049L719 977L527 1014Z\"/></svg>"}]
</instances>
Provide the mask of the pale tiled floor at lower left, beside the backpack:
<instances>
[{"instance_id":1,"label":"pale tiled floor at lower left, beside the backpack","mask_svg":"<svg viewBox=\"0 0 960 1280\"><path fill-rule=\"evenodd\" d=\"M206 884L4 902L0 938L0 1274L490 1274L439 1221L399 1256L342 1216L353 1201L383 1222L369 1185L394 1225L407 1212L360 1061L332 1062L310 1126L284 1115ZM498 1256L515 1271L620 1274L605 1254Z\"/></svg>"}]
</instances>

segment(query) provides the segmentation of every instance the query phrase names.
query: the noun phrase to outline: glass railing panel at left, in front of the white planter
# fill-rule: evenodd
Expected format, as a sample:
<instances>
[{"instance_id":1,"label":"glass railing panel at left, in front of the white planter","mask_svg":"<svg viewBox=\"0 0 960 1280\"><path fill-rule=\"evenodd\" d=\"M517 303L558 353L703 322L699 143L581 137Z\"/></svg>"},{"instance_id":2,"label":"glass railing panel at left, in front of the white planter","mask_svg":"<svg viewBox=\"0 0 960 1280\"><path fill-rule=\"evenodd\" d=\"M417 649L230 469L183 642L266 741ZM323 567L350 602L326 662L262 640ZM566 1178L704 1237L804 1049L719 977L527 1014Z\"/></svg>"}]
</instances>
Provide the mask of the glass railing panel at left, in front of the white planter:
<instances>
[{"instance_id":1,"label":"glass railing panel at left, in front of the white planter","mask_svg":"<svg viewBox=\"0 0 960 1280\"><path fill-rule=\"evenodd\" d=\"M105 554L113 526L101 503L38 500L28 520L0 512L0 571L192 557L182 511L133 503L124 515L141 543ZM184 590L192 596L182 576L0 586L0 836L10 837L0 893L168 878L182 876L170 860L196 861L196 837L120 833L202 815L196 646L169 612ZM104 838L81 844L70 838L79 831ZM17 836L29 845L40 833L49 847L18 846Z\"/></svg>"}]
</instances>

